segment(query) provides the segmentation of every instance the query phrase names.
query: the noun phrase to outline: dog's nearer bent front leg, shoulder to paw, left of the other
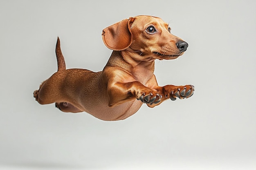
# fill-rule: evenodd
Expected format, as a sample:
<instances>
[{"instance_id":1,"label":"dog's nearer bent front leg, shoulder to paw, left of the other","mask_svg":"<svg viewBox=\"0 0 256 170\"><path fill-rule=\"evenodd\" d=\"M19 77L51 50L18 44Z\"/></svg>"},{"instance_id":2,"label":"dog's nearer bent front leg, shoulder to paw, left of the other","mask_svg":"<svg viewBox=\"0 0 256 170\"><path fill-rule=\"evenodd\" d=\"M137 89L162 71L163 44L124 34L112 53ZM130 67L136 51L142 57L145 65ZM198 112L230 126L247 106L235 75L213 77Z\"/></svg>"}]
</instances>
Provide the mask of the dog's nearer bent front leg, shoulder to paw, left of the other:
<instances>
[{"instance_id":1,"label":"dog's nearer bent front leg, shoulder to paw, left of the other","mask_svg":"<svg viewBox=\"0 0 256 170\"><path fill-rule=\"evenodd\" d=\"M140 82L116 82L108 84L109 107L114 107L134 99L146 104L157 104L161 101L162 95Z\"/></svg>"}]
</instances>

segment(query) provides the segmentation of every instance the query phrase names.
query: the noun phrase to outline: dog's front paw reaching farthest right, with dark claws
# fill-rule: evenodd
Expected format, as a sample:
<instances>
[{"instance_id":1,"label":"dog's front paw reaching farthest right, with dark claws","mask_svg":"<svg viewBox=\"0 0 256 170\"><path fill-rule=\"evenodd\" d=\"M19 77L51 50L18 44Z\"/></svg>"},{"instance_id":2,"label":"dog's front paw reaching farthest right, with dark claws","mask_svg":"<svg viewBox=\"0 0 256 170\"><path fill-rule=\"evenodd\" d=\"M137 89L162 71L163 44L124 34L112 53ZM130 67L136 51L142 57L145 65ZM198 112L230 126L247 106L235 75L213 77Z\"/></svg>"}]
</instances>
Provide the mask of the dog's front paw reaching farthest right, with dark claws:
<instances>
[{"instance_id":1,"label":"dog's front paw reaching farthest right, with dark claws","mask_svg":"<svg viewBox=\"0 0 256 170\"><path fill-rule=\"evenodd\" d=\"M192 85L186 85L186 86L177 86L174 90L171 91L170 99L176 100L176 98L180 99L186 99L191 97L194 94L195 87Z\"/></svg>"}]
</instances>

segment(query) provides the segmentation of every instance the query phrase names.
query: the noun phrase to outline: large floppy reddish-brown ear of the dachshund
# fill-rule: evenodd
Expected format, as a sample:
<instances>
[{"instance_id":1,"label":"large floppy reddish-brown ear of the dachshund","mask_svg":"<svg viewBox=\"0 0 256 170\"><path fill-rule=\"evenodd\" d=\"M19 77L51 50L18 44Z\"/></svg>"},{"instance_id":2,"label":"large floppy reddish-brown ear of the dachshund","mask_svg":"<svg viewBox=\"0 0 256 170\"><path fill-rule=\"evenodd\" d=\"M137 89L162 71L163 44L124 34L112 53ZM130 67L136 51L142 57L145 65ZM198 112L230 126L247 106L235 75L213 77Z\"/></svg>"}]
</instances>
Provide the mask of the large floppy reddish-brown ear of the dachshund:
<instances>
[{"instance_id":1,"label":"large floppy reddish-brown ear of the dachshund","mask_svg":"<svg viewBox=\"0 0 256 170\"><path fill-rule=\"evenodd\" d=\"M117 22L102 31L102 40L111 50L121 51L132 44L132 33L130 26L135 18L129 18Z\"/></svg>"}]
</instances>

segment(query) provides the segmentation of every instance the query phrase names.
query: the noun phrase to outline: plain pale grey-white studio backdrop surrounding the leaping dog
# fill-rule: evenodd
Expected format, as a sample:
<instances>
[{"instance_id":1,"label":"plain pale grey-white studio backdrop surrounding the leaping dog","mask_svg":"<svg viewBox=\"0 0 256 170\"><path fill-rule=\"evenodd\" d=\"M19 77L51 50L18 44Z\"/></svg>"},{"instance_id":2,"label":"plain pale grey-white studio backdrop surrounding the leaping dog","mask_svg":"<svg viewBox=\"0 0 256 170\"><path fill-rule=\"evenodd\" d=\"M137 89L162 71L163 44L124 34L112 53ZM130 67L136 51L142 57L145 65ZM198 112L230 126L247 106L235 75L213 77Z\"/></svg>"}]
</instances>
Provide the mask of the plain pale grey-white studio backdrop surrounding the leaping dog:
<instances>
[{"instance_id":1,"label":"plain pale grey-white studio backdrop surrounding the leaping dog","mask_svg":"<svg viewBox=\"0 0 256 170\"><path fill-rule=\"evenodd\" d=\"M84 170L256 169L256 1L1 0L0 168ZM101 71L101 31L154 15L189 43L156 61L159 85L193 84L193 97L143 105L123 121L63 113L33 97L57 70Z\"/></svg>"}]
</instances>

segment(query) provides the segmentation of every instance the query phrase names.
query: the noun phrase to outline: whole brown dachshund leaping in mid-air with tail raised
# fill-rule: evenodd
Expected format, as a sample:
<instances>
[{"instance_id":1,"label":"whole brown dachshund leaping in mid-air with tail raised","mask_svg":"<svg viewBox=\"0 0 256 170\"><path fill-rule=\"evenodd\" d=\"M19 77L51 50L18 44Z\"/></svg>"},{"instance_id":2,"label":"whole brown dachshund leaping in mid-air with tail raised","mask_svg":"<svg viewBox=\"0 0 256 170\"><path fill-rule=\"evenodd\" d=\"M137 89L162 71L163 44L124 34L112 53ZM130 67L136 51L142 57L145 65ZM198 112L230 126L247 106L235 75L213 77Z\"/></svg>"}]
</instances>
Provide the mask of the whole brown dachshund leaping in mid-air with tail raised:
<instances>
[{"instance_id":1,"label":"whole brown dachshund leaping in mid-air with tail raised","mask_svg":"<svg viewBox=\"0 0 256 170\"><path fill-rule=\"evenodd\" d=\"M63 112L87 112L102 120L130 117L143 103L153 108L166 99L191 97L194 86L158 86L155 60L171 60L188 44L170 33L162 19L136 16L103 29L104 44L112 49L103 71L67 69L57 40L58 71L45 80L34 97L40 104L56 102Z\"/></svg>"}]
</instances>

